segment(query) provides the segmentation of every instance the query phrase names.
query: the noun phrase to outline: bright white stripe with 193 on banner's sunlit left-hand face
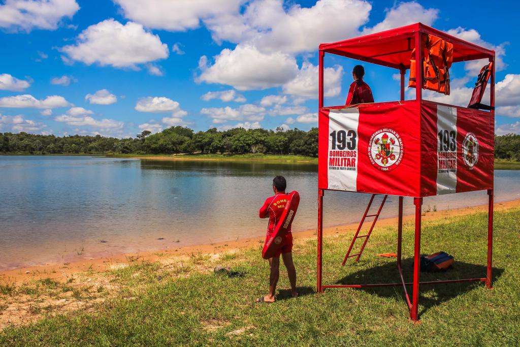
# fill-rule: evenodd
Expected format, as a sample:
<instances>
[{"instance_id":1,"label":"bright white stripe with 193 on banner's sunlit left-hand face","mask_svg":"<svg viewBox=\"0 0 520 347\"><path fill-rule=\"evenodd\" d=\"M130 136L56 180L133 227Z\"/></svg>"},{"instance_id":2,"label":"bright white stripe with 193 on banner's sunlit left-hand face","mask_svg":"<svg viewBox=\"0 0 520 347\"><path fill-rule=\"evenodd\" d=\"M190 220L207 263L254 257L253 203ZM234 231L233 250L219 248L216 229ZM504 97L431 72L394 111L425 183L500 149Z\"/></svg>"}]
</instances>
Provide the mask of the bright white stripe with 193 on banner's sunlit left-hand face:
<instances>
[{"instance_id":1,"label":"bright white stripe with 193 on banner's sunlit left-hand face","mask_svg":"<svg viewBox=\"0 0 520 347\"><path fill-rule=\"evenodd\" d=\"M329 189L357 190L359 110L331 110L329 113Z\"/></svg>"}]
</instances>

